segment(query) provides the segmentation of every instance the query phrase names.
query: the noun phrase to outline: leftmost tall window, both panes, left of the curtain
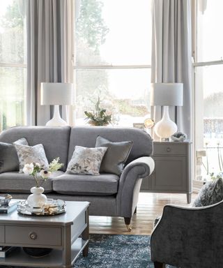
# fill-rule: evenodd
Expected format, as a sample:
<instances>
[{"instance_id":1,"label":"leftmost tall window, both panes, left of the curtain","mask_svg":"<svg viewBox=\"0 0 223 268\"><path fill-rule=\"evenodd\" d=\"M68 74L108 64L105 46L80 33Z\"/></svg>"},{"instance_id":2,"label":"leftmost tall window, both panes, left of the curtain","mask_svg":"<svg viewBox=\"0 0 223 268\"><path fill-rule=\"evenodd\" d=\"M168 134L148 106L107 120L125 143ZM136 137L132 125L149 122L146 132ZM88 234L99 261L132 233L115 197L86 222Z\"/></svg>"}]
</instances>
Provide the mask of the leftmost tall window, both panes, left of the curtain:
<instances>
[{"instance_id":1,"label":"leftmost tall window, both panes, left of the curtain","mask_svg":"<svg viewBox=\"0 0 223 268\"><path fill-rule=\"evenodd\" d=\"M24 125L26 94L26 31L24 2L1 1L0 131Z\"/></svg>"}]
</instances>

